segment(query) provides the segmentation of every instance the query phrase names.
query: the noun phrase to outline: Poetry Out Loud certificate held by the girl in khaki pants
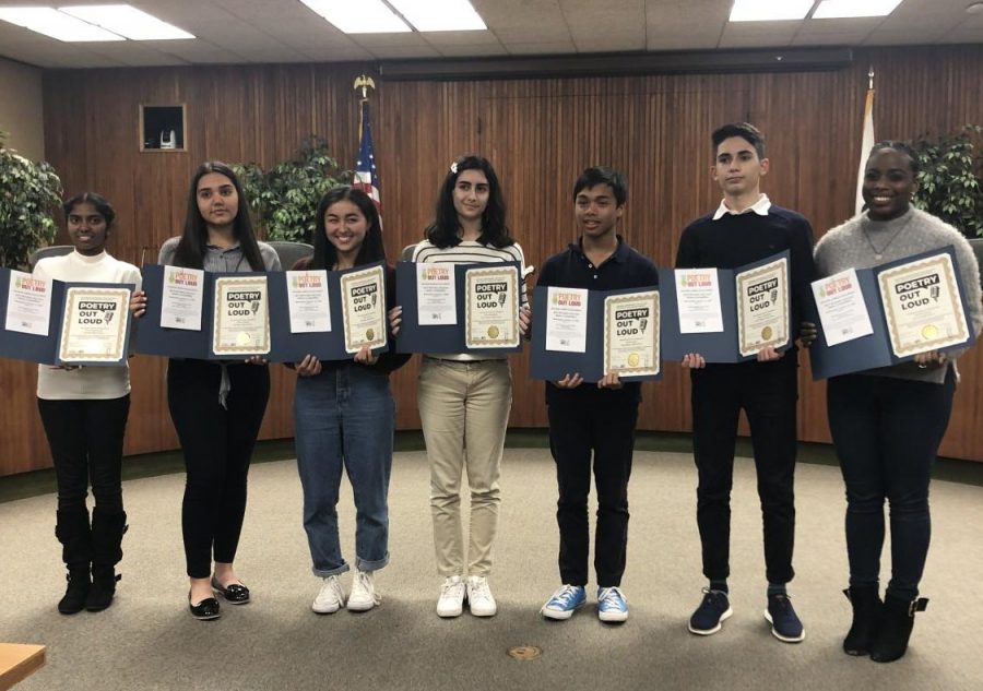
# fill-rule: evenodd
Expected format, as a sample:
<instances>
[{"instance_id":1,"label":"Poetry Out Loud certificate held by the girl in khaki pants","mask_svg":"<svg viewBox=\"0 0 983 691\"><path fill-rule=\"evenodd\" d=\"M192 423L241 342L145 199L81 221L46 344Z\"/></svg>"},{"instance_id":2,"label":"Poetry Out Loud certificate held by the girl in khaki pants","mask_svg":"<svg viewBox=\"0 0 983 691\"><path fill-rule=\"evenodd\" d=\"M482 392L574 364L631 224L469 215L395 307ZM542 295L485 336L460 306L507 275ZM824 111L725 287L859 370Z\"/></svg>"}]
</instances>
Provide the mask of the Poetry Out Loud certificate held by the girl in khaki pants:
<instances>
[{"instance_id":1,"label":"Poetry Out Loud certificate held by the girl in khaki pants","mask_svg":"<svg viewBox=\"0 0 983 691\"><path fill-rule=\"evenodd\" d=\"M469 269L464 275L464 345L519 345L519 272L514 266Z\"/></svg>"}]
</instances>

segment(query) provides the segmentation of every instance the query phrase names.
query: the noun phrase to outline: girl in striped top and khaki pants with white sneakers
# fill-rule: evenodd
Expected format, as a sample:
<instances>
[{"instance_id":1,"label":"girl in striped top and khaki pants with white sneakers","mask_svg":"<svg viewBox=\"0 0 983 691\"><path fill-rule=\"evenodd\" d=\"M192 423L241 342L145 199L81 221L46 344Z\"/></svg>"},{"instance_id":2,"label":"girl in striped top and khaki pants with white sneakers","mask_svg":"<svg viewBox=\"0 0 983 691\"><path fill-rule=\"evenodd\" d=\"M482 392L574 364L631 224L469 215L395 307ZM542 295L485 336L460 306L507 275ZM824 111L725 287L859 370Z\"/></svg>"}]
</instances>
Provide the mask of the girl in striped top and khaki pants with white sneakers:
<instances>
[{"instance_id":1,"label":"girl in striped top and khaki pants with white sneakers","mask_svg":"<svg viewBox=\"0 0 983 691\"><path fill-rule=\"evenodd\" d=\"M410 259L453 264L518 262L524 269L525 258L506 225L501 186L488 160L469 155L451 164L437 196L436 217ZM524 284L522 306L524 334L529 326ZM394 310L394 332L401 313ZM417 403L430 465L437 572L443 579L437 615L459 617L466 597L472 615L492 617L498 606L488 575L501 501L501 452L512 407L509 361L504 355L479 353L425 355ZM465 468L471 490L466 550L460 497Z\"/></svg>"}]
</instances>

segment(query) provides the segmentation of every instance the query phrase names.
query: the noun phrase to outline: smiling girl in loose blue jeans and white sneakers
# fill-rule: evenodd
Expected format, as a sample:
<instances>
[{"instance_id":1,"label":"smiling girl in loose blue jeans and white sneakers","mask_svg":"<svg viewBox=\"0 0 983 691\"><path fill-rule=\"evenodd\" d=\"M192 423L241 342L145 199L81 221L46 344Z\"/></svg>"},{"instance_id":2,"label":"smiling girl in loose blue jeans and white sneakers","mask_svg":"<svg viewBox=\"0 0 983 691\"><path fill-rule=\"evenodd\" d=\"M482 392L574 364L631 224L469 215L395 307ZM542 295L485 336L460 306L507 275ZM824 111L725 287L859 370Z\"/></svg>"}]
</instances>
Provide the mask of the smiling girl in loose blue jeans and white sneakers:
<instances>
[{"instance_id":1,"label":"smiling girl in loose blue jeans and white sneakers","mask_svg":"<svg viewBox=\"0 0 983 691\"><path fill-rule=\"evenodd\" d=\"M362 190L339 187L318 204L315 253L295 270L341 271L386 261L382 226L372 200ZM387 303L395 297L395 272L387 267ZM390 341L390 344L392 342ZM395 403L389 374L408 355L359 350L353 360L322 362L307 355L296 364L294 428L297 468L304 487L304 529L322 579L311 605L329 615L345 606L339 575L348 570L337 536L337 495L342 468L355 495L355 577L351 611L381 601L374 573L389 563L389 476L395 429Z\"/></svg>"}]
</instances>

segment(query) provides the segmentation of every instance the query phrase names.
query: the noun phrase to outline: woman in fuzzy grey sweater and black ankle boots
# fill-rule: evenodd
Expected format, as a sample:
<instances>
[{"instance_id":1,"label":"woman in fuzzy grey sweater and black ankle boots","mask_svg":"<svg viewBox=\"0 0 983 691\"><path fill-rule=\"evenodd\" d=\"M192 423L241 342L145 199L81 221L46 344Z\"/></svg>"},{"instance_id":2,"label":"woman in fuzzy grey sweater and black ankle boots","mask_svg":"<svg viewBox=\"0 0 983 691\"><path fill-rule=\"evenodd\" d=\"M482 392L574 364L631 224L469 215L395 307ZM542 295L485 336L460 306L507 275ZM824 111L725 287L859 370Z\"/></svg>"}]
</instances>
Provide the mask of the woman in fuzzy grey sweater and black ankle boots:
<instances>
[{"instance_id":1,"label":"woman in fuzzy grey sweater and black ankle boots","mask_svg":"<svg viewBox=\"0 0 983 691\"><path fill-rule=\"evenodd\" d=\"M871 151L862 193L866 211L816 245L820 276L865 269L952 246L972 330L983 324L980 275L969 242L956 228L911 205L917 154L901 142ZM833 377L827 383L829 429L846 484L846 553L853 624L849 655L879 663L902 657L914 613L928 601L919 582L932 532L928 480L952 410L961 349L933 350L914 361ZM891 580L880 601L884 501L890 503Z\"/></svg>"}]
</instances>

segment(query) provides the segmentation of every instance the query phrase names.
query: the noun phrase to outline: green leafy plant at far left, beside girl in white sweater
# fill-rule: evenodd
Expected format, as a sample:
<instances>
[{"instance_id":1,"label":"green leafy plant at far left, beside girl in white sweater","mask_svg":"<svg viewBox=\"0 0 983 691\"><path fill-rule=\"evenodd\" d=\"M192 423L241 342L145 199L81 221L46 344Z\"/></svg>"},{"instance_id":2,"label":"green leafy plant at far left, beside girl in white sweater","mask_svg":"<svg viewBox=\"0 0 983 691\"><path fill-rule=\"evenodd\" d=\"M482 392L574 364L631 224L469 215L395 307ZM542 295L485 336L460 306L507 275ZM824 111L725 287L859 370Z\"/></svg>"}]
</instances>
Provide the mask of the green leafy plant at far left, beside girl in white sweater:
<instances>
[{"instance_id":1,"label":"green leafy plant at far left, beside girl in white sweater","mask_svg":"<svg viewBox=\"0 0 983 691\"><path fill-rule=\"evenodd\" d=\"M49 163L24 158L5 140L0 132L0 266L23 269L34 250L55 239L51 212L62 188Z\"/></svg>"}]
</instances>

